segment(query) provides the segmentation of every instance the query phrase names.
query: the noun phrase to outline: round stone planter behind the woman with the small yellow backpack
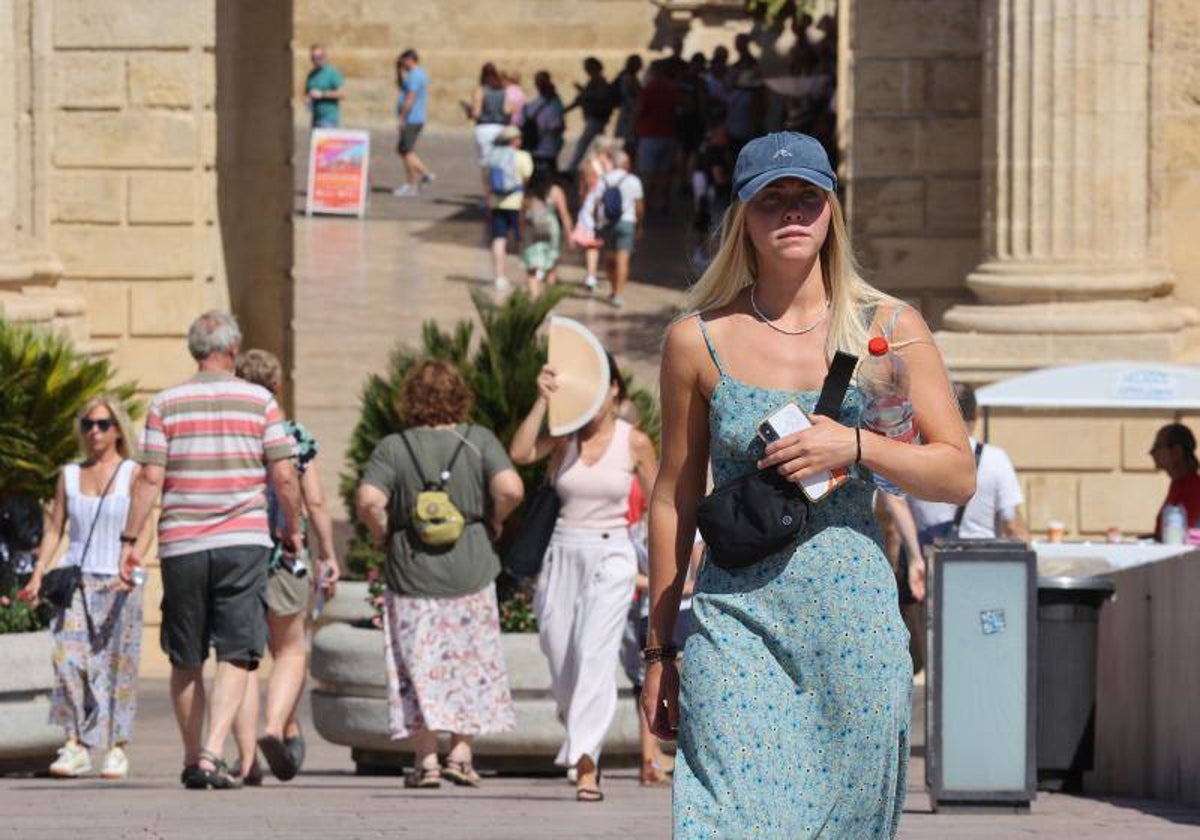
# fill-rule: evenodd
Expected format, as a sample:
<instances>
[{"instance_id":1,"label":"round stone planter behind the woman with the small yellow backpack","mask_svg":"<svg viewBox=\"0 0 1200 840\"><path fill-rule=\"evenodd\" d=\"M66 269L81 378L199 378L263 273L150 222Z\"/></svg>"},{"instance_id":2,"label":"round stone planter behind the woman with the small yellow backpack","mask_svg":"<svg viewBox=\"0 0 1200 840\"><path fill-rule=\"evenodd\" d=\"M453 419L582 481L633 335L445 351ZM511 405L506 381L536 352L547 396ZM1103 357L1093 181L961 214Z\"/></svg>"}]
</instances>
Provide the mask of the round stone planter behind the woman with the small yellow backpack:
<instances>
[{"instance_id":1,"label":"round stone planter behind the woman with the small yellow backpack","mask_svg":"<svg viewBox=\"0 0 1200 840\"><path fill-rule=\"evenodd\" d=\"M553 772L563 727L550 696L550 671L538 636L503 634L500 640L517 725L510 732L475 740L479 764L498 770ZM359 773L394 772L410 761L412 745L388 737L380 630L326 624L313 638L311 670L316 680L313 724L325 740L350 748ZM632 686L623 672L618 673L618 686L617 718L605 739L604 761L610 767L636 763L641 755Z\"/></svg>"}]
</instances>

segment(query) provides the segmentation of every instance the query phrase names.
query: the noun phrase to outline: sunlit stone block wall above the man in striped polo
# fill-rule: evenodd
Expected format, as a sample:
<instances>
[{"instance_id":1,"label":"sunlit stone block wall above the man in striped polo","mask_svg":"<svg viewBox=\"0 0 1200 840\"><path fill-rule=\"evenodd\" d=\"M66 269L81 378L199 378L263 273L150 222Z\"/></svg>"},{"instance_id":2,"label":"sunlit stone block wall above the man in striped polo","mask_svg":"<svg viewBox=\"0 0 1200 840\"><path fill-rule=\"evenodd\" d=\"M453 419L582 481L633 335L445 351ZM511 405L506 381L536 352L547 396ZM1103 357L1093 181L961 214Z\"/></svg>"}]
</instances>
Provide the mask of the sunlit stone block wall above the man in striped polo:
<instances>
[{"instance_id":1,"label":"sunlit stone block wall above the man in striped polo","mask_svg":"<svg viewBox=\"0 0 1200 840\"><path fill-rule=\"evenodd\" d=\"M47 35L44 212L61 287L83 295L124 379L192 367L182 336L228 306L216 228L212 0L35 4Z\"/></svg>"}]
</instances>

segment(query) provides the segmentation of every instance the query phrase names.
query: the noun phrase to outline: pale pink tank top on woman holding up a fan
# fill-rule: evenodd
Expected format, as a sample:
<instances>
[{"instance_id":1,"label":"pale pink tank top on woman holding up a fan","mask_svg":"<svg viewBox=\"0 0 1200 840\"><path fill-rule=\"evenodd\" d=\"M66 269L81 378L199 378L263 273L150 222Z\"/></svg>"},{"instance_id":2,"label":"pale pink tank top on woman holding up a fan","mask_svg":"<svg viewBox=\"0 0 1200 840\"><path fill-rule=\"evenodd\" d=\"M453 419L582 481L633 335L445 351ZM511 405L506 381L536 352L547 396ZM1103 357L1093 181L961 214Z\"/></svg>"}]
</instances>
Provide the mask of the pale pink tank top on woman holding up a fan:
<instances>
[{"instance_id":1,"label":"pale pink tank top on woman holding up a fan","mask_svg":"<svg viewBox=\"0 0 1200 840\"><path fill-rule=\"evenodd\" d=\"M634 430L617 420L612 440L600 460L588 466L580 460L580 442L572 437L554 479L563 506L558 524L564 528L624 528L629 512L629 492L634 480L634 456L629 451L629 433Z\"/></svg>"}]
</instances>

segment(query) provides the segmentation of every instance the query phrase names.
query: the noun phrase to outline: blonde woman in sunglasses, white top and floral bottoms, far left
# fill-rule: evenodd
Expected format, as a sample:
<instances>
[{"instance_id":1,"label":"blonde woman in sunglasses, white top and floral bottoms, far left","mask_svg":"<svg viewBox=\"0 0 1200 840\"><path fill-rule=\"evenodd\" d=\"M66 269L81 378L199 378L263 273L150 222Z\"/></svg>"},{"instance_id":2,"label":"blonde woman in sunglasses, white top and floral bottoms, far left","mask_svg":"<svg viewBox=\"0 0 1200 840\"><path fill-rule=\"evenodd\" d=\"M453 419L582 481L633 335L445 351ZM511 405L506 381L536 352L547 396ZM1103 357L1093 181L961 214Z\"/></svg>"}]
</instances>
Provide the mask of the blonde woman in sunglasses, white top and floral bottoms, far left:
<instances>
[{"instance_id":1,"label":"blonde woman in sunglasses, white top and floral bottoms, far left","mask_svg":"<svg viewBox=\"0 0 1200 840\"><path fill-rule=\"evenodd\" d=\"M66 730L67 742L50 764L50 775L91 773L92 749L104 750L100 775L125 779L125 748L133 736L138 656L142 650L142 589L118 577L121 529L130 506L130 486L138 475L137 444L121 400L103 394L89 400L77 419L84 460L59 473L49 527L37 551L29 583L20 592L37 599L42 578L70 539L59 566L80 566L82 589L60 612L54 636L54 692L50 722ZM139 541L145 547L149 529Z\"/></svg>"}]
</instances>

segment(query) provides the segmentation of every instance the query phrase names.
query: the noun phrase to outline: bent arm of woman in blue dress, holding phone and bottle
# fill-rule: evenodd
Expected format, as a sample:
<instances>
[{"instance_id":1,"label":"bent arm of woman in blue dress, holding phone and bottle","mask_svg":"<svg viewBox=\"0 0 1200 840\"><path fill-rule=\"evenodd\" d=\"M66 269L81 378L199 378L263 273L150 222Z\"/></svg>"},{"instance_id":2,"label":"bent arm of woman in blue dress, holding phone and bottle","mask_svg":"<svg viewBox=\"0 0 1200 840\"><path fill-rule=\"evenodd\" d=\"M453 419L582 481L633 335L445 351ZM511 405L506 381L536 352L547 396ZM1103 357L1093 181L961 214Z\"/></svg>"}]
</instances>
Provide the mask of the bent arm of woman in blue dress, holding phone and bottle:
<instances>
[{"instance_id":1,"label":"bent arm of woman in blue dress, holding phone and bottle","mask_svg":"<svg viewBox=\"0 0 1200 840\"><path fill-rule=\"evenodd\" d=\"M854 463L856 438L860 437L862 463L872 472L919 499L966 504L974 494L974 457L942 354L925 322L908 307L900 314L893 344L908 367L913 418L922 445L890 440L865 430L857 436L853 428L836 420L815 415L811 428L767 446L758 467L774 467L788 481L799 482L815 473Z\"/></svg>"}]
</instances>

